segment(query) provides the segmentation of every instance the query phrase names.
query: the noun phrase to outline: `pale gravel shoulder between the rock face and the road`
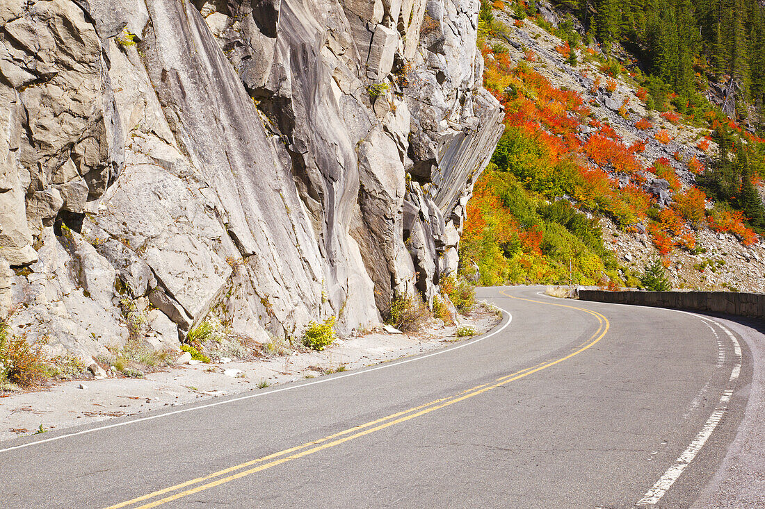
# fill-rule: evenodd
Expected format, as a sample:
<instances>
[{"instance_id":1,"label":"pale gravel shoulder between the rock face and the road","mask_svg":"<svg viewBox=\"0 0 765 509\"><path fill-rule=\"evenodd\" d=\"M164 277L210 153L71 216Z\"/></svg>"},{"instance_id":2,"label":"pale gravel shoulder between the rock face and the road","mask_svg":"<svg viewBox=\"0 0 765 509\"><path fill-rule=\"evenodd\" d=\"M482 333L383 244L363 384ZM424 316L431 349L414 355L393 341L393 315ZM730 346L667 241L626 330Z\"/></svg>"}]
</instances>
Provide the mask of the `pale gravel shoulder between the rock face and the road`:
<instances>
[{"instance_id":1,"label":"pale gravel shoulder between the rock face and the road","mask_svg":"<svg viewBox=\"0 0 765 509\"><path fill-rule=\"evenodd\" d=\"M459 327L476 335L499 319L482 306L460 316ZM66 381L44 390L0 394L0 441L43 430L60 430L161 407L258 391L275 384L363 368L437 350L453 342L457 326L432 320L418 334L383 332L337 339L324 352L291 352L254 361L174 365L145 378L93 378Z\"/></svg>"}]
</instances>

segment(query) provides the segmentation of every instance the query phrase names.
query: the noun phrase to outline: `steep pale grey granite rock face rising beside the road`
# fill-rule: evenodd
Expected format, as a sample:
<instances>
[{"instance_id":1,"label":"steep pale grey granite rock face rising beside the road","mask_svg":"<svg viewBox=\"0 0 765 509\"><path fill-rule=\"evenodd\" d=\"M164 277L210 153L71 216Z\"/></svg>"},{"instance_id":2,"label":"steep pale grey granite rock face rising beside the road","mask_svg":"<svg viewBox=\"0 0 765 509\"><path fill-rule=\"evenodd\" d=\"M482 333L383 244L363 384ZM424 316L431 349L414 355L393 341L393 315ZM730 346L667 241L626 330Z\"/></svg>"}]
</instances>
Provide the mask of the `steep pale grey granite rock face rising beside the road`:
<instances>
[{"instance_id":1,"label":"steep pale grey granite rock face rising beside the road","mask_svg":"<svg viewBox=\"0 0 765 509\"><path fill-rule=\"evenodd\" d=\"M265 341L327 316L341 332L379 323L396 295L431 300L502 130L478 9L5 2L13 326L88 357L129 338L138 301L168 345L213 316Z\"/></svg>"}]
</instances>

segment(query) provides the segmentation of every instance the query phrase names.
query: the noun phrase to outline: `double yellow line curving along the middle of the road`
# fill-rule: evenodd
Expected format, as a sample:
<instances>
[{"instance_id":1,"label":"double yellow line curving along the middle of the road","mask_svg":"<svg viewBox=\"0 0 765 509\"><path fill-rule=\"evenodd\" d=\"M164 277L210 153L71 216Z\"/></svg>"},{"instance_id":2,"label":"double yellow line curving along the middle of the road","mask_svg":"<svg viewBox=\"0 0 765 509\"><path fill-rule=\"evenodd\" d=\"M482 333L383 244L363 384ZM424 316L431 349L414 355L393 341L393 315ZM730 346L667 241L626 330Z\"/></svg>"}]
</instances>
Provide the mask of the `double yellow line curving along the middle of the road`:
<instances>
[{"instance_id":1,"label":"double yellow line curving along the middle of the road","mask_svg":"<svg viewBox=\"0 0 765 509\"><path fill-rule=\"evenodd\" d=\"M460 401L467 400L470 397L474 397L474 396L477 396L478 394L483 394L484 392L496 389L496 387L502 387L503 385L509 384L512 381L516 381L519 378L526 377L529 374L535 373L537 371L542 371L543 369L549 368L550 366L554 366L558 364L559 362L562 362L571 357L574 357L575 355L578 355L579 353L584 352L584 350L589 349L592 345L599 342L603 338L603 336L606 335L606 332L608 332L608 328L610 326L608 319L605 316L601 315L601 313L596 313L595 311L585 310L584 308L576 307L576 306L568 306L567 304L542 302L540 300L531 300L531 299L523 299L521 297L513 297L509 295L508 293L506 293L504 290L502 290L500 293L502 293L503 296L505 297L510 297L511 299L526 300L532 303L548 304L550 306L568 307L572 310L584 311L584 313L589 313L592 316L595 316L597 318L597 321L599 323L598 329L587 341L585 341L581 345L578 345L575 352L571 352L565 357L558 358L554 361L545 361L538 365L532 366L531 368L522 369L521 371L516 371L512 374L508 374L506 376L497 378L493 384L477 385L476 387L468 389L467 391L461 391L457 394L453 394L452 396L443 397L438 400L433 400L430 403L426 403L418 407L412 407L412 408L409 408L408 410L402 410L401 412L392 413L389 416L369 421L368 423L361 424L360 426L353 426L352 428L348 428L347 430L343 430L343 431L340 431L339 433L334 433L332 435L325 436L324 438L304 443L300 446L284 449L282 451L269 454L268 456L262 456L262 458L252 459L249 462L244 462L244 463L240 463L239 465L234 465L229 468L224 468L223 470L219 470L218 472L213 472L210 475L205 475L203 477L191 479L190 481L182 482L181 484L174 485L169 488L153 491L151 493L142 495L141 497L133 498L132 500L124 501L119 504L106 507L106 509L119 509L119 507L128 507L128 506L134 506L132 507L132 509L148 509L148 507L157 507L159 505L167 504L168 502L176 501L180 498L187 497L190 494L198 493L199 491L204 491L210 488L215 488L216 486L220 486L220 485L226 484L227 482L246 477L247 475L252 475L252 474L255 474L256 472L261 472L262 470L265 470L267 468L272 468L277 465L282 465L282 463L290 462L294 459L299 459L304 456L308 456L316 452L322 451L324 449L329 449L330 447L339 446L342 443L349 442L350 440L357 439L362 436L369 435L371 433L376 433L377 431L380 431L380 430L385 430L386 428L390 426L395 426L396 424L404 423L407 420L414 419L415 417L420 417L422 415L425 415L426 413L431 413L435 410L448 407ZM187 488L187 489L184 489L184 488ZM165 496L164 498L158 498L158 497L162 497L162 495L167 495L167 496ZM157 499L157 500L135 507L135 504L139 504L141 502L145 502L151 499Z\"/></svg>"}]
</instances>

